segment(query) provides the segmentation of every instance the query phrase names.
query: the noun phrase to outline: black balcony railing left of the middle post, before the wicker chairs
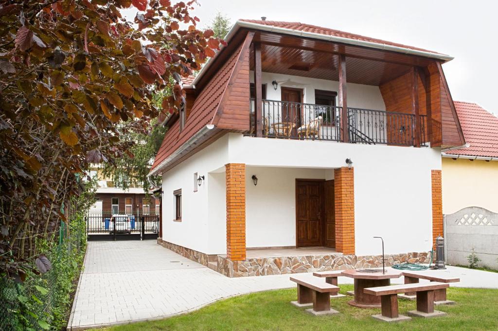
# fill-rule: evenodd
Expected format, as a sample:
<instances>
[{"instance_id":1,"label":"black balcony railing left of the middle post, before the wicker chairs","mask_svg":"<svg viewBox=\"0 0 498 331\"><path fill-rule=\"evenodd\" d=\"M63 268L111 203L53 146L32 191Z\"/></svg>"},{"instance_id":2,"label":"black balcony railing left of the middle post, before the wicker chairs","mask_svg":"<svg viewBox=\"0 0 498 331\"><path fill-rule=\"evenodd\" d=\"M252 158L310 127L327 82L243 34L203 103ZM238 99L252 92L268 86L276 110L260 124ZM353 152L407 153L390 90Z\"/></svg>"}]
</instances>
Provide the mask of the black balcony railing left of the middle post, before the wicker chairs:
<instances>
[{"instance_id":1,"label":"black balcony railing left of the middle post, before the wicker chairs","mask_svg":"<svg viewBox=\"0 0 498 331\"><path fill-rule=\"evenodd\" d=\"M254 102L250 99L250 130L255 136ZM263 137L341 141L341 107L262 100Z\"/></svg>"}]
</instances>

